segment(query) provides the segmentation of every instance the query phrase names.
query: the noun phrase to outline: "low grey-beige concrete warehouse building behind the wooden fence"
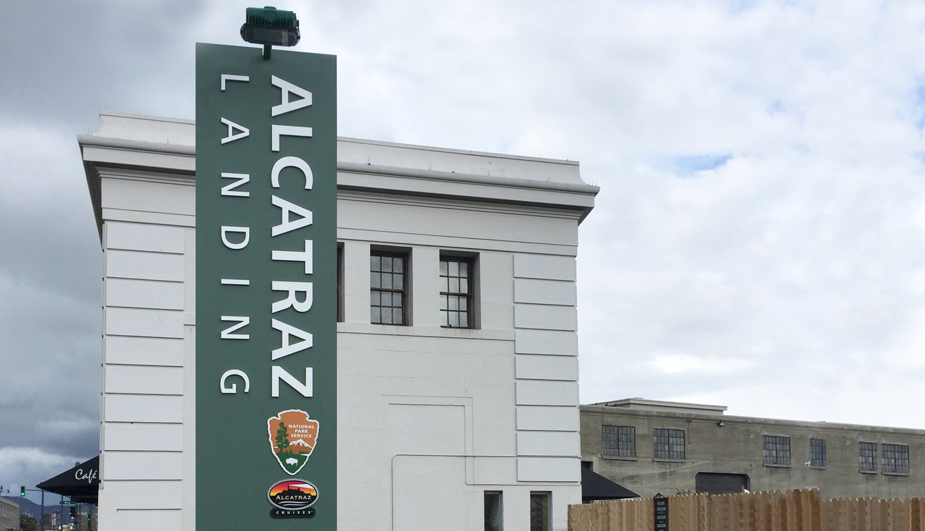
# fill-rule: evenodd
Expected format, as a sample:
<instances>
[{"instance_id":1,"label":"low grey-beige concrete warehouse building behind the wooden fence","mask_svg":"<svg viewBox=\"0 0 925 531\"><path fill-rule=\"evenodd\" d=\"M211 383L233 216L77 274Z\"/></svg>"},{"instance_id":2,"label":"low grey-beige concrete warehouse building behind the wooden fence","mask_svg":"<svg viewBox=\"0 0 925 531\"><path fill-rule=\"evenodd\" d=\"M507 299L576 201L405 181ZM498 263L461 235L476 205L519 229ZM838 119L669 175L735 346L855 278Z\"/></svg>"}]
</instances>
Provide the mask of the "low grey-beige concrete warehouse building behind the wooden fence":
<instances>
[{"instance_id":1,"label":"low grey-beige concrete warehouse building behind the wooden fence","mask_svg":"<svg viewBox=\"0 0 925 531\"><path fill-rule=\"evenodd\" d=\"M925 430L725 416L724 405L630 398L581 406L581 454L643 497L819 488L925 496Z\"/></svg>"}]
</instances>

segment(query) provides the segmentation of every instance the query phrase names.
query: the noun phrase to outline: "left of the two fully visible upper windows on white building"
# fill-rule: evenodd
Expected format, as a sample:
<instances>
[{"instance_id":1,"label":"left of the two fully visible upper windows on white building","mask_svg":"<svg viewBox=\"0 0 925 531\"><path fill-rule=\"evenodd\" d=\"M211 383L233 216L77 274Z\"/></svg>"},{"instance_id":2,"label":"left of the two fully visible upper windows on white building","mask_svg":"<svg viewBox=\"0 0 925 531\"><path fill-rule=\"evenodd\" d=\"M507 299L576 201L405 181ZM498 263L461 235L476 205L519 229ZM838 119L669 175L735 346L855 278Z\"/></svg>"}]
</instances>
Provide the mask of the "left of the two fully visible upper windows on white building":
<instances>
[{"instance_id":1,"label":"left of the two fully visible upper windows on white building","mask_svg":"<svg viewBox=\"0 0 925 531\"><path fill-rule=\"evenodd\" d=\"M373 251L369 257L370 322L408 324L408 255Z\"/></svg>"}]
</instances>

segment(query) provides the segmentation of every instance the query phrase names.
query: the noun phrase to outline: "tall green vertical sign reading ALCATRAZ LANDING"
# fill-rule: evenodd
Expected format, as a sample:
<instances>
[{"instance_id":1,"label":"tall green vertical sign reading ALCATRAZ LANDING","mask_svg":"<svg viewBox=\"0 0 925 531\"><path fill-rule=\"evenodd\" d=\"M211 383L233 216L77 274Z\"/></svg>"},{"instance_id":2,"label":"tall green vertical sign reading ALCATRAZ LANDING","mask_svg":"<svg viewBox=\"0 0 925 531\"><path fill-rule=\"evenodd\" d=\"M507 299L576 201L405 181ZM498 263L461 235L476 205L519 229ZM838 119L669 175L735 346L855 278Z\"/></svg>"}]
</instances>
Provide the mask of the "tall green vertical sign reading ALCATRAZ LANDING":
<instances>
[{"instance_id":1,"label":"tall green vertical sign reading ALCATRAZ LANDING","mask_svg":"<svg viewBox=\"0 0 925 531\"><path fill-rule=\"evenodd\" d=\"M337 63L196 45L196 527L337 528Z\"/></svg>"}]
</instances>

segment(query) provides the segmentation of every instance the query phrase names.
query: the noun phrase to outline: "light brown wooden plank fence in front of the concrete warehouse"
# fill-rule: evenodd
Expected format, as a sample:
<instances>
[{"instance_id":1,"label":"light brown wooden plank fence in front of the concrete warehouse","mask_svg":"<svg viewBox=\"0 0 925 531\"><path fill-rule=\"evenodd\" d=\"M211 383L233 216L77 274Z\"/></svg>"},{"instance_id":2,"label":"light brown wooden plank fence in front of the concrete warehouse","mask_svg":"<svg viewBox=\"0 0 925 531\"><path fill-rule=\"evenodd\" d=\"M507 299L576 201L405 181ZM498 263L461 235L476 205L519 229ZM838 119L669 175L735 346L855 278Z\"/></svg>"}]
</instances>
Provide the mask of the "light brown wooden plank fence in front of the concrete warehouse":
<instances>
[{"instance_id":1,"label":"light brown wooden plank fence in front of the concrete warehouse","mask_svg":"<svg viewBox=\"0 0 925 531\"><path fill-rule=\"evenodd\" d=\"M925 499L823 500L817 489L668 498L669 531L925 531ZM652 499L569 506L569 531L653 531Z\"/></svg>"}]
</instances>

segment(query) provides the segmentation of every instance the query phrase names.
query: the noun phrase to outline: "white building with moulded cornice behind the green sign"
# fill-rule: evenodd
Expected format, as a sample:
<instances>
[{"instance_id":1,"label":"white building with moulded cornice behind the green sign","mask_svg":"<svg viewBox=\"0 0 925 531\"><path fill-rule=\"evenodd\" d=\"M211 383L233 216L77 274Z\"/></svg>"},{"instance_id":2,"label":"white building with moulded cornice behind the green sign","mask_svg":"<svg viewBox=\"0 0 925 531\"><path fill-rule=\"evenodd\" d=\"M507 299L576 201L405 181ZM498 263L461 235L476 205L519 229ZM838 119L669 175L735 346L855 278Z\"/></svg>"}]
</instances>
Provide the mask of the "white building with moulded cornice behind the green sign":
<instances>
[{"instance_id":1,"label":"white building with moulded cornice behind the green sign","mask_svg":"<svg viewBox=\"0 0 925 531\"><path fill-rule=\"evenodd\" d=\"M195 526L194 138L116 113L79 137L105 253L101 531ZM481 530L498 503L504 529L531 529L544 501L566 528L597 192L574 162L339 139L340 529ZM388 261L401 289L371 284Z\"/></svg>"}]
</instances>

